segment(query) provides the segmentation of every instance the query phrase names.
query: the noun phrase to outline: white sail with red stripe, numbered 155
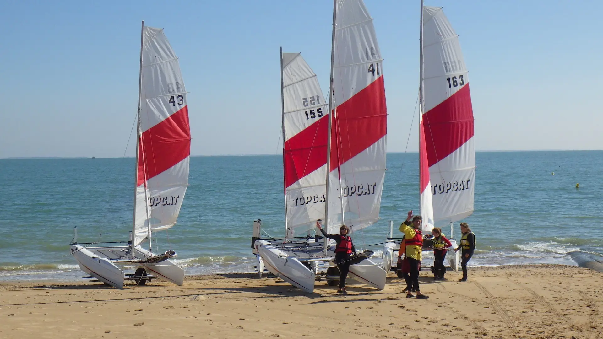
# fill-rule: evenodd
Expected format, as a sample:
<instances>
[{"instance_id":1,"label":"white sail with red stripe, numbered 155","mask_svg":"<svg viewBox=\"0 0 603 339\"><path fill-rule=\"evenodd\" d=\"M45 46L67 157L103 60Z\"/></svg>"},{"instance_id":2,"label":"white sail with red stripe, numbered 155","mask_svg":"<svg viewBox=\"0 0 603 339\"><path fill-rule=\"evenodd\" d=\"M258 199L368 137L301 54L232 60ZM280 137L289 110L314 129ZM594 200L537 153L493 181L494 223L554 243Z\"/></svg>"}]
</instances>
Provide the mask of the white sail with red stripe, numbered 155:
<instances>
[{"instance_id":1,"label":"white sail with red stripe, numbered 155","mask_svg":"<svg viewBox=\"0 0 603 339\"><path fill-rule=\"evenodd\" d=\"M282 54L287 236L324 217L328 103L300 53Z\"/></svg>"}]
</instances>

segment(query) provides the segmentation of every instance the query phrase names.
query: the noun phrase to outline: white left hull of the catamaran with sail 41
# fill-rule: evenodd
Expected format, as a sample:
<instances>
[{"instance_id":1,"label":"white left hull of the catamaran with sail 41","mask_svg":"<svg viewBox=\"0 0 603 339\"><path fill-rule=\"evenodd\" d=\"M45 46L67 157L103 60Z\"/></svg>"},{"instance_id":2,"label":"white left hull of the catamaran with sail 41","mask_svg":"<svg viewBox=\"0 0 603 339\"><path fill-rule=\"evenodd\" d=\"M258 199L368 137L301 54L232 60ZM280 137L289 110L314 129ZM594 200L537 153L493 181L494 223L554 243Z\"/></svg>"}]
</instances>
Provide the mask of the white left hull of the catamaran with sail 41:
<instances>
[{"instance_id":1,"label":"white left hull of the catamaran with sail 41","mask_svg":"<svg viewBox=\"0 0 603 339\"><path fill-rule=\"evenodd\" d=\"M309 270L297 258L283 250L277 249L265 240L257 240L255 247L270 273L295 287L301 288L301 290L308 293L314 292L316 276L314 272Z\"/></svg>"}]
</instances>

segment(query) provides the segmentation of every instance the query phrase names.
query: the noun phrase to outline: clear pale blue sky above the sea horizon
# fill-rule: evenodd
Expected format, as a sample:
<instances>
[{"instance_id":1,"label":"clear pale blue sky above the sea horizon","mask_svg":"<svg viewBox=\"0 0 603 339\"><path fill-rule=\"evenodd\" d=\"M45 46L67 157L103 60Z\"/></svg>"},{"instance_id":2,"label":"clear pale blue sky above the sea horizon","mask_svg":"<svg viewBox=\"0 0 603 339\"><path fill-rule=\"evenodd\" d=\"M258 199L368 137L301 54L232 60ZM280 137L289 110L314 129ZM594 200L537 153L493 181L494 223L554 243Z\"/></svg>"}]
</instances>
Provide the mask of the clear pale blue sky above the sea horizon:
<instances>
[{"instance_id":1,"label":"clear pale blue sky above the sea horizon","mask_svg":"<svg viewBox=\"0 0 603 339\"><path fill-rule=\"evenodd\" d=\"M388 151L404 151L417 98L418 1L365 2L385 58ZM460 36L477 150L603 148L603 1L426 5L443 6ZM302 52L327 92L331 10L312 0L2 0L0 158L122 156L142 19L165 28L180 57L193 155L277 153L279 46Z\"/></svg>"}]
</instances>

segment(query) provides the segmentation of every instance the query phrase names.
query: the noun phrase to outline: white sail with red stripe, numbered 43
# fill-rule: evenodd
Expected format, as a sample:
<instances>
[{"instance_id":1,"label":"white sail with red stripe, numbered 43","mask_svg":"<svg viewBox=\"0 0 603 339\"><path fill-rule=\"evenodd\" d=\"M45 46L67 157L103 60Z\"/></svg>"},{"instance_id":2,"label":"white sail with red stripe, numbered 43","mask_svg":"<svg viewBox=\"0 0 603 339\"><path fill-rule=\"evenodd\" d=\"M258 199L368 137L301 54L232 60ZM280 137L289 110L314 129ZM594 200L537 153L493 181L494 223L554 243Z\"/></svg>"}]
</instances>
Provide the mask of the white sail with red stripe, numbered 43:
<instances>
[{"instance_id":1,"label":"white sail with red stripe, numbered 43","mask_svg":"<svg viewBox=\"0 0 603 339\"><path fill-rule=\"evenodd\" d=\"M144 27L141 83L134 246L174 226L188 186L186 89L162 29Z\"/></svg>"}]
</instances>

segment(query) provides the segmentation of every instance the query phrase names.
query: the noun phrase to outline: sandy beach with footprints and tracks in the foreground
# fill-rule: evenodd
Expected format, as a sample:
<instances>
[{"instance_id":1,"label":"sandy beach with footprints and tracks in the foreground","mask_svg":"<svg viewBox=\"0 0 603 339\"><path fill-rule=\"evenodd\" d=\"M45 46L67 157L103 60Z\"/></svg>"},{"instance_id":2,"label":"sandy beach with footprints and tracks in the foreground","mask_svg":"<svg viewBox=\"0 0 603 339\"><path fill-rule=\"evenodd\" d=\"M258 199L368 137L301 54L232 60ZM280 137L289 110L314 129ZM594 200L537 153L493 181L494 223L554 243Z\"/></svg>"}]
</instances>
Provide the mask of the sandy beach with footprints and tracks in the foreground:
<instances>
[{"instance_id":1,"label":"sandy beach with footprints and tracks in the foreground","mask_svg":"<svg viewBox=\"0 0 603 339\"><path fill-rule=\"evenodd\" d=\"M406 299L402 279L385 291L317 282L308 295L274 277L187 277L122 290L86 282L0 284L0 338L601 338L603 274L565 265L470 269Z\"/></svg>"}]
</instances>

